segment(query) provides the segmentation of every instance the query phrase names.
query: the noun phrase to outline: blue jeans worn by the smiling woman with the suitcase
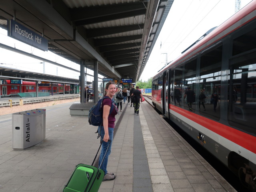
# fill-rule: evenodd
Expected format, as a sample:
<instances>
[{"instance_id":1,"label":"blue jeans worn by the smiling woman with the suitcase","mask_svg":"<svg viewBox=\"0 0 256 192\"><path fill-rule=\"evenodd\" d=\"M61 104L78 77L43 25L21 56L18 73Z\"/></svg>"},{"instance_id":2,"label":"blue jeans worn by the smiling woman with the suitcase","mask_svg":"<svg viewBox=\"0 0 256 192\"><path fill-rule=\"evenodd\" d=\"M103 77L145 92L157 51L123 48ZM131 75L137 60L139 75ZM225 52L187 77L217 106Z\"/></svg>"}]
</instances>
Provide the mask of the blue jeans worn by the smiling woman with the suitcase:
<instances>
[{"instance_id":1,"label":"blue jeans worn by the smiling woman with the suitcase","mask_svg":"<svg viewBox=\"0 0 256 192\"><path fill-rule=\"evenodd\" d=\"M103 126L101 126L101 130L100 130L100 126L98 127L98 131L100 133L100 140L102 141L103 138L104 138L104 135L105 135L105 131L104 131L104 128ZM113 133L114 133L114 128L108 128L108 135L109 135L109 139L111 140L111 143L109 145L109 148L108 148L108 144L109 142L104 142L102 141L102 146L101 146L101 152L100 152L100 158L99 158L99 167L100 167L100 163L102 162L102 159L106 153L106 150L108 148L108 151L106 153L106 156L104 158L104 161L102 162L102 165L100 167L100 169L102 169L105 173L105 175L107 174L107 164L108 164L108 156L110 155L110 152L111 152L111 146L112 146L112 142L113 142Z\"/></svg>"}]
</instances>

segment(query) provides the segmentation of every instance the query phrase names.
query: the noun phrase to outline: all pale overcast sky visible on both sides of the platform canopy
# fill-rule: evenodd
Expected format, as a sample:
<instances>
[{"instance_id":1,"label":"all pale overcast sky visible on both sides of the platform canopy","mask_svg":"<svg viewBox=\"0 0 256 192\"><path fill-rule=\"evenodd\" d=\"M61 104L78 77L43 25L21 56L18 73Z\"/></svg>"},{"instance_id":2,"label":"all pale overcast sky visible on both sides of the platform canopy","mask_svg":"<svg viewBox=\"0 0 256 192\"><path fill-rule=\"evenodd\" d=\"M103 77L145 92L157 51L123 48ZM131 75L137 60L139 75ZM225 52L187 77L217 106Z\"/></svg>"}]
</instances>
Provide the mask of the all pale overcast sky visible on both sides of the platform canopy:
<instances>
[{"instance_id":1,"label":"all pale overcast sky visible on both sides of the platform canopy","mask_svg":"<svg viewBox=\"0 0 256 192\"><path fill-rule=\"evenodd\" d=\"M148 62L140 76L142 81L153 77L167 63L180 56L181 52L200 38L206 31L219 26L235 13L236 0L174 0L164 22ZM241 0L241 8L251 0ZM0 28L0 43L15 47L53 62L80 70L80 65L70 62L52 52L44 52L7 36ZM41 60L0 48L0 66L43 73ZM45 73L76 78L80 73L45 62ZM92 70L87 70L93 75ZM99 76L102 77L102 76ZM88 81L93 77L87 76Z\"/></svg>"}]
</instances>

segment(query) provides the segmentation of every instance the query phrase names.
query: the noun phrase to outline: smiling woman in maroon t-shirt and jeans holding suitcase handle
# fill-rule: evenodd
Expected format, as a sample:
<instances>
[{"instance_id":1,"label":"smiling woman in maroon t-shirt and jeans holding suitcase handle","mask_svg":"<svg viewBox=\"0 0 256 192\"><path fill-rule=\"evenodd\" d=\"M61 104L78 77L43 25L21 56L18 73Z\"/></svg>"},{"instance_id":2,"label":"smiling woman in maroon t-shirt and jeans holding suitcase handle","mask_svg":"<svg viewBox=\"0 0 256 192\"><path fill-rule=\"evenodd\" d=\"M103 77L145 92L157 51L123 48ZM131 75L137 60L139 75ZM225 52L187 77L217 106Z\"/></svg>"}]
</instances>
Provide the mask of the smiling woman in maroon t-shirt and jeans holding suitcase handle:
<instances>
[{"instance_id":1,"label":"smiling woman in maroon t-shirt and jeans holding suitcase handle","mask_svg":"<svg viewBox=\"0 0 256 192\"><path fill-rule=\"evenodd\" d=\"M110 155L111 152L111 146L113 143L113 133L114 133L114 126L115 126L115 121L116 121L116 114L118 112L116 106L112 102L112 98L116 93L116 85L113 82L108 82L105 87L105 96L108 96L110 99L104 99L102 101L102 106L101 110L103 111L103 126L98 127L98 132L100 134L100 139L102 141L102 149L100 152L100 158L99 158L99 166L100 163L102 162L102 159L104 158L104 154L106 153L106 156L104 158L104 161L102 163L102 166L100 167L104 173L105 176L102 181L106 180L114 180L116 176L114 173L108 172L107 171L107 164L108 164L108 156ZM111 114L110 113L110 107L111 105L114 105L114 109L112 110ZM108 140L111 140L109 147L108 147Z\"/></svg>"}]
</instances>

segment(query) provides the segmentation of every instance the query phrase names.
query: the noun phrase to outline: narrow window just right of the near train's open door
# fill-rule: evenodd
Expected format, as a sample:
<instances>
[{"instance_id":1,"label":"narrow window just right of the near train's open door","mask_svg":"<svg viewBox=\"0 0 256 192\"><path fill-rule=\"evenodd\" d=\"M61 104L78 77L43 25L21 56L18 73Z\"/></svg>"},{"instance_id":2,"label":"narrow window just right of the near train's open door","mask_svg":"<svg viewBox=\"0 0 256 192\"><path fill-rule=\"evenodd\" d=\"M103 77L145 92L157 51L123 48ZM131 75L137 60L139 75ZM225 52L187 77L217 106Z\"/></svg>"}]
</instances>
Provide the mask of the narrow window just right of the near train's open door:
<instances>
[{"instance_id":1,"label":"narrow window just right of the near train's open door","mask_svg":"<svg viewBox=\"0 0 256 192\"><path fill-rule=\"evenodd\" d=\"M174 69L174 104L178 106L181 106L182 88L184 86L182 82L183 66L182 63Z\"/></svg>"}]
</instances>

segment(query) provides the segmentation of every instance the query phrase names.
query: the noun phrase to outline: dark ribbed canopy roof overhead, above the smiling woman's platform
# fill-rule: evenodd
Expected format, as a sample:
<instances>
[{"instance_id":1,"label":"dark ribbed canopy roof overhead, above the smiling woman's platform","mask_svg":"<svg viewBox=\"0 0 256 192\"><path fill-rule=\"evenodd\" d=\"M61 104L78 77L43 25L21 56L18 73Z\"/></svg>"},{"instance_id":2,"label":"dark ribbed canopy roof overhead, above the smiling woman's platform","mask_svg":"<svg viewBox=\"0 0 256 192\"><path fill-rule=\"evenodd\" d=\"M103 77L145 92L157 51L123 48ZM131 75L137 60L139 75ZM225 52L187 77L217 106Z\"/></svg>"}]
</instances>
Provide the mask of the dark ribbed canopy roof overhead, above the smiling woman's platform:
<instances>
[{"instance_id":1,"label":"dark ribbed canopy roof overhead, above the smiling woman's platform","mask_svg":"<svg viewBox=\"0 0 256 192\"><path fill-rule=\"evenodd\" d=\"M1 0L10 20L48 40L48 51L107 78L139 80L174 0Z\"/></svg>"}]
</instances>

